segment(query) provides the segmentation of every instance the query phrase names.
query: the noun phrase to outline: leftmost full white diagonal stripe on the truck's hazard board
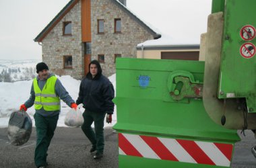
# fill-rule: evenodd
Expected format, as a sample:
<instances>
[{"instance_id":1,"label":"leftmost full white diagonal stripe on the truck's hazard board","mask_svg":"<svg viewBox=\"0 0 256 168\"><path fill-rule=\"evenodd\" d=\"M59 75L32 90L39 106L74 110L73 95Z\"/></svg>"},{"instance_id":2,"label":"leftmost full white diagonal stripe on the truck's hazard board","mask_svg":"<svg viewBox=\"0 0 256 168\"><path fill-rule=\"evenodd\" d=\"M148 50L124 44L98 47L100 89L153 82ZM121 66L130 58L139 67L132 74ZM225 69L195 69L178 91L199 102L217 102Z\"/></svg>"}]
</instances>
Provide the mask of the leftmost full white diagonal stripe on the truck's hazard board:
<instances>
[{"instance_id":1,"label":"leftmost full white diagonal stripe on the truck's hazard board","mask_svg":"<svg viewBox=\"0 0 256 168\"><path fill-rule=\"evenodd\" d=\"M160 159L158 155L152 149L150 149L150 146L146 144L144 140L141 139L140 136L133 135L133 134L123 134L129 142L141 153L143 157L151 158L151 159Z\"/></svg>"}]
</instances>

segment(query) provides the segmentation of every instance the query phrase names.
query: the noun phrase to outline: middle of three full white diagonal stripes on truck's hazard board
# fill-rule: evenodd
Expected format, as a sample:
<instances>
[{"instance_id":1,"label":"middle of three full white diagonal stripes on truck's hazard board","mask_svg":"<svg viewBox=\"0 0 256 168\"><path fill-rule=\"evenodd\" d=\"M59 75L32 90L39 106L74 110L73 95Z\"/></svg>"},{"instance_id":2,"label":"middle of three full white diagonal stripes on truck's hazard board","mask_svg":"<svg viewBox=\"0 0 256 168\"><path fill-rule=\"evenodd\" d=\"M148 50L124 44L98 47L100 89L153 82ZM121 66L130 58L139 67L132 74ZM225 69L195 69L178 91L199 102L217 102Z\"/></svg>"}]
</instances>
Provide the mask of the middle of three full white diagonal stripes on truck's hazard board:
<instances>
[{"instance_id":1,"label":"middle of three full white diagonal stripes on truck's hazard board","mask_svg":"<svg viewBox=\"0 0 256 168\"><path fill-rule=\"evenodd\" d=\"M159 138L159 140L166 146L166 148L172 152L172 154L182 162L188 162L188 163L197 163L193 157L191 157L185 149L183 149L183 146L177 142L175 139L170 138Z\"/></svg>"}]
</instances>

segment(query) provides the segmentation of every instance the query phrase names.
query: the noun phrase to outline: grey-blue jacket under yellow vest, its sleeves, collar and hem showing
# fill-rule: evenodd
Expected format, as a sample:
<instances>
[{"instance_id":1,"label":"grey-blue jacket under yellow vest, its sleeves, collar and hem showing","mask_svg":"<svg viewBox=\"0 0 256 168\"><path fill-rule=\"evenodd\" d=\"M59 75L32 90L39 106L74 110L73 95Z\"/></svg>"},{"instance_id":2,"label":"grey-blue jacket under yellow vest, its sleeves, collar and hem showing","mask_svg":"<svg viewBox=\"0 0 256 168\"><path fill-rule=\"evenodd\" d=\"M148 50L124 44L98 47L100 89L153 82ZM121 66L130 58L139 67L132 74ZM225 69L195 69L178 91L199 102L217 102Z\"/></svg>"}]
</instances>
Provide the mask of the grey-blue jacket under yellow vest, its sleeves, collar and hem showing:
<instances>
[{"instance_id":1,"label":"grey-blue jacket under yellow vest, its sleeves, collar and hem showing","mask_svg":"<svg viewBox=\"0 0 256 168\"><path fill-rule=\"evenodd\" d=\"M49 77L54 76L52 73L49 74ZM49 77L47 79L49 79ZM38 86L42 90L44 87L46 80L39 80L38 77L36 77L38 81ZM71 103L74 103L75 101L71 98L69 93L66 91L65 87L63 87L61 81L57 79L55 83L55 93L57 96L59 96L65 103L67 103L67 106L71 107ZM34 94L34 86L32 83L31 90L30 90L30 98L25 102L26 108L30 108L34 104L35 94ZM57 111L45 111L44 108L41 108L40 110L36 110L36 113L42 115L42 116L55 116L60 113L60 110Z\"/></svg>"}]
</instances>

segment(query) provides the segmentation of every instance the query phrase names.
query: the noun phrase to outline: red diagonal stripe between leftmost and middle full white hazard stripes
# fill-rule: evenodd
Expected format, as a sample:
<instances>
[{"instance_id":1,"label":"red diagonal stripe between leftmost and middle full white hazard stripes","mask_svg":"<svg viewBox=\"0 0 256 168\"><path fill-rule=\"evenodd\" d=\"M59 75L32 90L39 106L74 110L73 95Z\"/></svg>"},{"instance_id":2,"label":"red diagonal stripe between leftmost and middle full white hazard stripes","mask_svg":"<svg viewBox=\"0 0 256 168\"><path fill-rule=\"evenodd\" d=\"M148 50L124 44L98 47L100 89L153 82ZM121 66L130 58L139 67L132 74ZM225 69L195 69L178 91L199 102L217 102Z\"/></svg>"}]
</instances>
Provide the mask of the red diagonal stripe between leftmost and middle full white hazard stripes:
<instances>
[{"instance_id":1,"label":"red diagonal stripe between leftmost and middle full white hazard stripes","mask_svg":"<svg viewBox=\"0 0 256 168\"><path fill-rule=\"evenodd\" d=\"M150 137L150 136L140 136L147 144L150 146L150 148L155 151L155 153L160 157L160 159L163 160L170 160L170 161L178 161L172 153L162 144L160 140L156 137Z\"/></svg>"}]
</instances>

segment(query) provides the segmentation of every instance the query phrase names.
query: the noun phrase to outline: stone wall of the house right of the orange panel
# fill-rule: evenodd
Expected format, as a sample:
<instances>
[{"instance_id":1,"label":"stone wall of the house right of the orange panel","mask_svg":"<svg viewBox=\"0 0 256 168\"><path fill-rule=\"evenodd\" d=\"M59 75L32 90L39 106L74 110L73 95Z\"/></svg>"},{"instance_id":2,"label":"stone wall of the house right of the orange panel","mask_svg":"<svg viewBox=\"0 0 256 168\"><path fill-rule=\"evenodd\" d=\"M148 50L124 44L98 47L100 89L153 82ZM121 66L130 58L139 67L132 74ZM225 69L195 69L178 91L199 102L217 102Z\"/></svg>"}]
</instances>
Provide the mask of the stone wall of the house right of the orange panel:
<instances>
[{"instance_id":1,"label":"stone wall of the house right of the orange panel","mask_svg":"<svg viewBox=\"0 0 256 168\"><path fill-rule=\"evenodd\" d=\"M92 0L92 60L98 60L98 54L104 54L102 66L106 76L115 73L115 54L136 58L137 44L154 39L152 34L140 26L113 0ZM121 33L115 33L115 18L121 18ZM104 34L98 34L97 19L104 19Z\"/></svg>"}]
</instances>

